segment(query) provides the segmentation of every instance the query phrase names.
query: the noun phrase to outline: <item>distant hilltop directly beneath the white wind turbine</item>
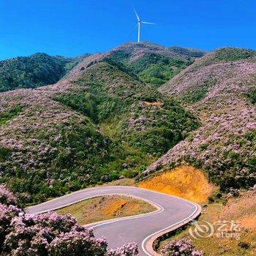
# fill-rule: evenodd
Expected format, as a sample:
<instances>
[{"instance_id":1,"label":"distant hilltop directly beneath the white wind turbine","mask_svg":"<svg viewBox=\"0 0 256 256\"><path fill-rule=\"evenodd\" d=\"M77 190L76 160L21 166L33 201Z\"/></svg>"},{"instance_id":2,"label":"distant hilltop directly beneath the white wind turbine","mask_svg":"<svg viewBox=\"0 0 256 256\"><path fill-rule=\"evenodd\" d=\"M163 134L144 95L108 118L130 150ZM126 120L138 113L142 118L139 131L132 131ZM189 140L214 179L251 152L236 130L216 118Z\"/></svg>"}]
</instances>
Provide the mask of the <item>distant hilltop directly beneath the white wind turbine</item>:
<instances>
[{"instance_id":1,"label":"distant hilltop directly beneath the white wind turbine","mask_svg":"<svg viewBox=\"0 0 256 256\"><path fill-rule=\"evenodd\" d=\"M205 54L202 50L167 48L150 42L121 45L110 50L108 58L121 62L140 80L160 86Z\"/></svg>"}]
</instances>

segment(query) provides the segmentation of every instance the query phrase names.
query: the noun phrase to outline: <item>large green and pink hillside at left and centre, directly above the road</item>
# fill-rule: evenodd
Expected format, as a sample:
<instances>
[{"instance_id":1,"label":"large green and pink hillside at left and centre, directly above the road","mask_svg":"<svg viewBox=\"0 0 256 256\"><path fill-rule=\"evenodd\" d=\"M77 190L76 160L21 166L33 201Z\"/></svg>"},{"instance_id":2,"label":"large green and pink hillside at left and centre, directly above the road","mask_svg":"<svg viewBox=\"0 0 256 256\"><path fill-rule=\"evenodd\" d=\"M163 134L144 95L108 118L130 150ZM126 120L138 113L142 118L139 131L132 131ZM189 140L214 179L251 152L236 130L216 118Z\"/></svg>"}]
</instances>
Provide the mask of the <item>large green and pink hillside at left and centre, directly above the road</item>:
<instances>
[{"instance_id":1,"label":"large green and pink hillside at left and centre, directly above the road","mask_svg":"<svg viewBox=\"0 0 256 256\"><path fill-rule=\"evenodd\" d=\"M198 126L104 54L89 56L54 85L0 94L0 183L40 202L135 176Z\"/></svg>"}]
</instances>

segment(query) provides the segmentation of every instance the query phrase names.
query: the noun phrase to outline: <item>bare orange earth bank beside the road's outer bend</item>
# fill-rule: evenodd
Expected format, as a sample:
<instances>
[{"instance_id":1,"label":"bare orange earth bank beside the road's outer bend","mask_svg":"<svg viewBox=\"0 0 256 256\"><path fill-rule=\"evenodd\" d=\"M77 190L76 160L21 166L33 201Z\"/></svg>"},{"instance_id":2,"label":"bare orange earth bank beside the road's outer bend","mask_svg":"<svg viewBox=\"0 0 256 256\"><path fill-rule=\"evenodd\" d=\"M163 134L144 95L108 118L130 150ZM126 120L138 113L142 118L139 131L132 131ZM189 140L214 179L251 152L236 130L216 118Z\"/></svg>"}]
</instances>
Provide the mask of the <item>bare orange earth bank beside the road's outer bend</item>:
<instances>
[{"instance_id":1,"label":"bare orange earth bank beside the road's outer bend","mask_svg":"<svg viewBox=\"0 0 256 256\"><path fill-rule=\"evenodd\" d=\"M167 173L141 182L138 187L183 197L196 203L205 203L214 190L203 171L192 166L176 167Z\"/></svg>"}]
</instances>

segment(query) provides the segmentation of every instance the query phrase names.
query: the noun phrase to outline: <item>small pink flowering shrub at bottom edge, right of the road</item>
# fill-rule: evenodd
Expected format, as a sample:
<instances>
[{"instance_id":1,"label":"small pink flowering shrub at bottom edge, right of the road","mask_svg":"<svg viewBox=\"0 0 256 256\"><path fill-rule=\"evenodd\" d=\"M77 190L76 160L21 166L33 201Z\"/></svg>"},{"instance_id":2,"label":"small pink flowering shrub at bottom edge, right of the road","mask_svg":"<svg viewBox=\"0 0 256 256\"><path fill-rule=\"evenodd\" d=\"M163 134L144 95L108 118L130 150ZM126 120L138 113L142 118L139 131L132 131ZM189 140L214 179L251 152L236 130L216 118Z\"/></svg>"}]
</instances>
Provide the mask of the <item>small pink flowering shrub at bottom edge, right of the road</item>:
<instances>
[{"instance_id":1,"label":"small pink flowering shrub at bottom edge, right of the road","mask_svg":"<svg viewBox=\"0 0 256 256\"><path fill-rule=\"evenodd\" d=\"M197 251L191 240L185 238L173 240L162 248L162 256L203 256L202 252Z\"/></svg>"}]
</instances>

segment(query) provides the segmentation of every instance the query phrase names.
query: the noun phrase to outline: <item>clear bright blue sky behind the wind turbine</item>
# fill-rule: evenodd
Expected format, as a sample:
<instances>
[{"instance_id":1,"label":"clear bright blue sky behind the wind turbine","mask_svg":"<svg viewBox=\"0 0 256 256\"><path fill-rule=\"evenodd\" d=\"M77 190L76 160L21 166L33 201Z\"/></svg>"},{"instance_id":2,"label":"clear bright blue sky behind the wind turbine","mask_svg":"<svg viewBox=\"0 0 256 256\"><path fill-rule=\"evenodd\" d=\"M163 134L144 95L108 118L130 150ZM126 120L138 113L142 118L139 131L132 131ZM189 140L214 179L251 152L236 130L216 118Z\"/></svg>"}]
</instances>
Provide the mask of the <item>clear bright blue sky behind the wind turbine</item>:
<instances>
[{"instance_id":1,"label":"clear bright blue sky behind the wind turbine","mask_svg":"<svg viewBox=\"0 0 256 256\"><path fill-rule=\"evenodd\" d=\"M255 0L0 0L0 59L36 52L78 56L141 39L212 50L256 50Z\"/></svg>"}]
</instances>

